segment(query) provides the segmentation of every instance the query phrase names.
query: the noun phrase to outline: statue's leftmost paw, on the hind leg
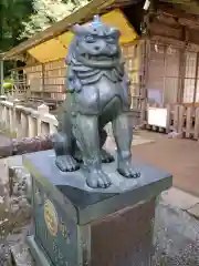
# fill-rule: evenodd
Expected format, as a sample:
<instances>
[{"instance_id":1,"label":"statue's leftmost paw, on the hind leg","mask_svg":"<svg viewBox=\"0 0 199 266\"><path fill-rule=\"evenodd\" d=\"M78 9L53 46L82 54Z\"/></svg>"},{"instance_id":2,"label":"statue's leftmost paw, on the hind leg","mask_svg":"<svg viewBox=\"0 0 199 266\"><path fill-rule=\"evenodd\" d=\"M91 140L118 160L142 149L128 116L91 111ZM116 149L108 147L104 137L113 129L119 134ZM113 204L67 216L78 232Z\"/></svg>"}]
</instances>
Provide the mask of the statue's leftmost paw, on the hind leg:
<instances>
[{"instance_id":1,"label":"statue's leftmost paw, on the hind leg","mask_svg":"<svg viewBox=\"0 0 199 266\"><path fill-rule=\"evenodd\" d=\"M71 155L57 156L55 164L62 172L74 172L80 168L78 163Z\"/></svg>"}]
</instances>

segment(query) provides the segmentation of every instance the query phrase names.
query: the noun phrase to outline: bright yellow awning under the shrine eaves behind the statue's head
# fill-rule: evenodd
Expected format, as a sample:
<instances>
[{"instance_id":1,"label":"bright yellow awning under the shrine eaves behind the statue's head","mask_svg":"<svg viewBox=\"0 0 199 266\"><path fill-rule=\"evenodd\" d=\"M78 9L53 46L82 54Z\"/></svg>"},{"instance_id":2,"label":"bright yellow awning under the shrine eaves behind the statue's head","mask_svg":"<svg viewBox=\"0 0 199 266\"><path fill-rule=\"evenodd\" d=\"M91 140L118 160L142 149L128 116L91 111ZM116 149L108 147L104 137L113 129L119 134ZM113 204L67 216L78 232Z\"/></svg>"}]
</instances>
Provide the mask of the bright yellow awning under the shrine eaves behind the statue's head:
<instances>
[{"instance_id":1,"label":"bright yellow awning under the shrine eaves behind the statue's head","mask_svg":"<svg viewBox=\"0 0 199 266\"><path fill-rule=\"evenodd\" d=\"M137 38L136 31L119 9L103 14L102 21L108 25L117 28L121 31L121 44L133 42ZM60 37L30 49L28 52L41 63L63 59L67 53L66 50L72 39L73 33L66 31Z\"/></svg>"}]
</instances>

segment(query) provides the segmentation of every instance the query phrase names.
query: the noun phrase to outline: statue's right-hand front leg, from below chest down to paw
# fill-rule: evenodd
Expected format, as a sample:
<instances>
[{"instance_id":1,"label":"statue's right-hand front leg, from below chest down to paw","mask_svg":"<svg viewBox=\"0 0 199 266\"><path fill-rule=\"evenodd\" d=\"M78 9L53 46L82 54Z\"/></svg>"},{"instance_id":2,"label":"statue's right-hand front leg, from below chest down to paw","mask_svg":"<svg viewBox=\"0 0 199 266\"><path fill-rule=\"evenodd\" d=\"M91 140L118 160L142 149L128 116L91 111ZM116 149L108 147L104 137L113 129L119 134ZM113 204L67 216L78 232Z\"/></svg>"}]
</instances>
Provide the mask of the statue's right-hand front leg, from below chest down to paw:
<instances>
[{"instance_id":1,"label":"statue's right-hand front leg, from below chest down to paw","mask_svg":"<svg viewBox=\"0 0 199 266\"><path fill-rule=\"evenodd\" d=\"M126 113L121 113L113 121L113 132L117 146L117 171L125 177L137 178L138 170L132 165L130 146L133 141L133 126L130 126Z\"/></svg>"}]
</instances>

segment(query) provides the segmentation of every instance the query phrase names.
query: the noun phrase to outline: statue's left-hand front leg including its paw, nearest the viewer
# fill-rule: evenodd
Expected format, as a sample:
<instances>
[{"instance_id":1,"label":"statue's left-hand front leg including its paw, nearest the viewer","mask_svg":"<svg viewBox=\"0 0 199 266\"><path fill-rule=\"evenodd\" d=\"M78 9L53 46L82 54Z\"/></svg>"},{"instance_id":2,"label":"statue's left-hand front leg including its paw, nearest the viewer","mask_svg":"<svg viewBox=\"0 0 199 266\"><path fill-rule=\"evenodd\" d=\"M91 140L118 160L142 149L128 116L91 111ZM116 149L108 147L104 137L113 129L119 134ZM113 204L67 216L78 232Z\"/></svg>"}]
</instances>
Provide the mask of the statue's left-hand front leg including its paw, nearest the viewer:
<instances>
[{"instance_id":1,"label":"statue's left-hand front leg including its paw, nearest the viewer","mask_svg":"<svg viewBox=\"0 0 199 266\"><path fill-rule=\"evenodd\" d=\"M73 134L82 152L86 183L90 187L108 187L111 181L102 170L98 120L96 115L76 114Z\"/></svg>"}]
</instances>

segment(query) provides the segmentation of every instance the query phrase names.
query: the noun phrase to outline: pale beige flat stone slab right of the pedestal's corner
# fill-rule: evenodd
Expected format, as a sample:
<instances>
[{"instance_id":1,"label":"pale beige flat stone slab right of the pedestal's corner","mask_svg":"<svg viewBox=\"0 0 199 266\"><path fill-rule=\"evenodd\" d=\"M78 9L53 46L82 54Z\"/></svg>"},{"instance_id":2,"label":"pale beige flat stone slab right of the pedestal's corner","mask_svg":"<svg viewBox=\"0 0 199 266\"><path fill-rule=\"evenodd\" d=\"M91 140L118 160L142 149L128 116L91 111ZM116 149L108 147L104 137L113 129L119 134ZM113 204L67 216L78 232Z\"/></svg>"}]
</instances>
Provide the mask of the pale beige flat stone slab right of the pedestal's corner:
<instances>
[{"instance_id":1,"label":"pale beige flat stone slab right of the pedestal's corner","mask_svg":"<svg viewBox=\"0 0 199 266\"><path fill-rule=\"evenodd\" d=\"M191 208L193 205L199 203L199 198L192 196L186 192L182 192L176 187L171 187L170 190L164 192L161 194L161 198L174 207L187 211Z\"/></svg>"}]
</instances>

